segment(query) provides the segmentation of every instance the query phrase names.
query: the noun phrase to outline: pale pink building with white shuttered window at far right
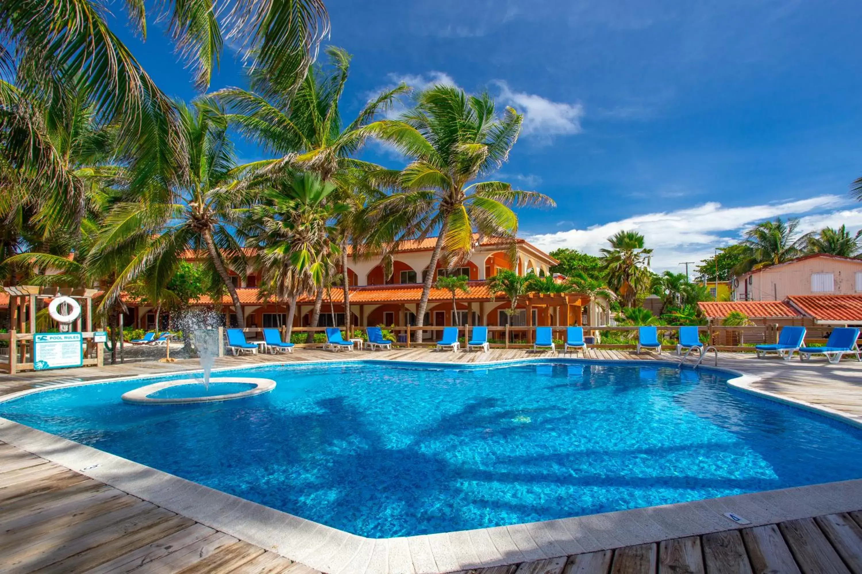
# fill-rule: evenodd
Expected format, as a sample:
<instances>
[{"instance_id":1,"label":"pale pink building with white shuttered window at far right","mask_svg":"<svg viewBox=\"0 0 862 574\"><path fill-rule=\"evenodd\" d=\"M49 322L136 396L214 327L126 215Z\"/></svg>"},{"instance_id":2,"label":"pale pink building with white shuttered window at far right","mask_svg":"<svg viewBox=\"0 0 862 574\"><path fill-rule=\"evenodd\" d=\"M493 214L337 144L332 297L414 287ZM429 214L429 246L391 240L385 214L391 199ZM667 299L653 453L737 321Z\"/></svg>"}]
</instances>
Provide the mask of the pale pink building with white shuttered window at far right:
<instances>
[{"instance_id":1,"label":"pale pink building with white shuttered window at far right","mask_svg":"<svg viewBox=\"0 0 862 574\"><path fill-rule=\"evenodd\" d=\"M734 301L781 301L789 295L862 293L862 260L815 254L749 271L733 281Z\"/></svg>"}]
</instances>

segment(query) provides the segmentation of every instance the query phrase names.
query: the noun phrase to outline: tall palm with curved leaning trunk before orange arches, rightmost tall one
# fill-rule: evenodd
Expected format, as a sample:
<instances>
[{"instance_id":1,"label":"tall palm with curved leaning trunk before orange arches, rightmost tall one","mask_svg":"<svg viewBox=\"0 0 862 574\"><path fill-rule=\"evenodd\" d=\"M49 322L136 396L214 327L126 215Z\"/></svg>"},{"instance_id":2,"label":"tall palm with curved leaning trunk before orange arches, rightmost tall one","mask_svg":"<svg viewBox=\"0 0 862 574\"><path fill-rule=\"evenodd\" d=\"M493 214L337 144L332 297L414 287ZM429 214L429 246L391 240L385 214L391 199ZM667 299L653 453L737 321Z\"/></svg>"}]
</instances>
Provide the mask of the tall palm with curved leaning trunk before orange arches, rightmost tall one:
<instances>
[{"instance_id":1,"label":"tall palm with curved leaning trunk before orange arches, rightmost tall one","mask_svg":"<svg viewBox=\"0 0 862 574\"><path fill-rule=\"evenodd\" d=\"M554 205L547 195L516 190L505 182L478 181L509 158L521 124L522 115L513 108L497 117L487 94L468 97L461 89L435 86L420 93L415 109L398 120L377 121L363 130L410 158L403 170L372 174L384 188L399 191L379 201L372 212L377 215L375 235L398 240L437 234L416 310L417 326L422 327L444 249L455 265L472 253L473 231L480 238L511 238L514 245L518 218L510 207Z\"/></svg>"}]
</instances>

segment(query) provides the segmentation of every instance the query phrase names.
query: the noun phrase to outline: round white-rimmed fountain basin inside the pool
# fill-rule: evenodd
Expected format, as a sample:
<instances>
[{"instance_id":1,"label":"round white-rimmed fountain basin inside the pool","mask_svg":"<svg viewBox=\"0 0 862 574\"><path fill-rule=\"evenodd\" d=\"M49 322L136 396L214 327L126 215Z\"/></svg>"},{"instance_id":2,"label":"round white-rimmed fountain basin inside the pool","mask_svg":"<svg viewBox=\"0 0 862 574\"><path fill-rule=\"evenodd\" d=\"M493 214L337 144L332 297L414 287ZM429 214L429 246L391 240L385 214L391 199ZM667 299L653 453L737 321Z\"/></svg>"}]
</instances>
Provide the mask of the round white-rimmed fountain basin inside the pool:
<instances>
[{"instance_id":1,"label":"round white-rimmed fountain basin inside the pool","mask_svg":"<svg viewBox=\"0 0 862 574\"><path fill-rule=\"evenodd\" d=\"M274 388L274 380L253 377L213 377L209 384L203 379L180 379L139 386L121 398L132 404L210 403L253 397Z\"/></svg>"}]
</instances>

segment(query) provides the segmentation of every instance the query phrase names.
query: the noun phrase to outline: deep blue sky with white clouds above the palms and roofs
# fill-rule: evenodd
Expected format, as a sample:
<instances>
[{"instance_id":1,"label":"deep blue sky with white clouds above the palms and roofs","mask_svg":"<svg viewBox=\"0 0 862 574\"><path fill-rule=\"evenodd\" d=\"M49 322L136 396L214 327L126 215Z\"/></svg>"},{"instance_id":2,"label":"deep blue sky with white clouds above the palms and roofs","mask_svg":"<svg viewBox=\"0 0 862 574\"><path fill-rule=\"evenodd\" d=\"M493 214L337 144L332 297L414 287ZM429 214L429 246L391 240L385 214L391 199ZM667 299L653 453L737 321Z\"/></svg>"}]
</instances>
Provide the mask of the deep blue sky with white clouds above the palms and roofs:
<instances>
[{"instance_id":1,"label":"deep blue sky with white clouds above the palms and roofs","mask_svg":"<svg viewBox=\"0 0 862 574\"><path fill-rule=\"evenodd\" d=\"M681 269L777 215L862 226L862 3L849 0L329 0L353 53L349 116L385 86L487 89L525 114L499 179L557 201L521 235L596 253L638 229ZM133 51L166 92L191 74L151 24ZM241 84L229 49L212 89ZM259 157L239 146L243 159ZM371 145L365 158L397 166Z\"/></svg>"}]
</instances>

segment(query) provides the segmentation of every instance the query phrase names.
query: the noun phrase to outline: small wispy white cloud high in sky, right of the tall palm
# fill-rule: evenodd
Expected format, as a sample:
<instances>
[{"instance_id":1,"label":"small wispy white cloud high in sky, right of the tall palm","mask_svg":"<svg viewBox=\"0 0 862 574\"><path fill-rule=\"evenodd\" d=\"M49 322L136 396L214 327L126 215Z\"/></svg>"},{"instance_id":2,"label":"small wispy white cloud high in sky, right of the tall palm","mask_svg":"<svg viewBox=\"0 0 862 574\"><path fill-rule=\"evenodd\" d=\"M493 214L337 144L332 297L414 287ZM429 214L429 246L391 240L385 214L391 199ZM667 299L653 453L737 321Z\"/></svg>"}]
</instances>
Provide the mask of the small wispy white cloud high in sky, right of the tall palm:
<instances>
[{"instance_id":1,"label":"small wispy white cloud high in sky, right of the tall palm","mask_svg":"<svg viewBox=\"0 0 862 574\"><path fill-rule=\"evenodd\" d=\"M494 83L500 88L500 101L524 114L523 135L551 137L581 132L584 106L580 102L552 102L536 94L512 91L503 80Z\"/></svg>"}]
</instances>

